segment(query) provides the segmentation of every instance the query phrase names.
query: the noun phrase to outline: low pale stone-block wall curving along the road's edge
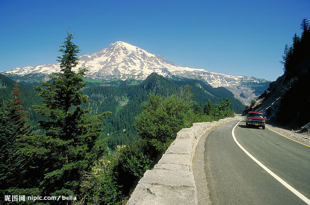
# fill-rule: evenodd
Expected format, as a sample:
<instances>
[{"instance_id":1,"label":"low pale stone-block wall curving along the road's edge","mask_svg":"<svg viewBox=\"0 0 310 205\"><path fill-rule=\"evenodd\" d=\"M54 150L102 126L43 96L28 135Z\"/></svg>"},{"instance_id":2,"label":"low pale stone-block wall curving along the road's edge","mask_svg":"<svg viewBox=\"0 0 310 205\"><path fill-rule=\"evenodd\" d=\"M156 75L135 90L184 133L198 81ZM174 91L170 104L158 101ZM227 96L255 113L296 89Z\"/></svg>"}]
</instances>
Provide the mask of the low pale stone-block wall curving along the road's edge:
<instances>
[{"instance_id":1,"label":"low pale stone-block wall curving along the road's edge","mask_svg":"<svg viewBox=\"0 0 310 205\"><path fill-rule=\"evenodd\" d=\"M158 164L144 173L127 205L197 204L192 161L198 141L207 130L232 120L193 123L179 131Z\"/></svg>"}]
</instances>

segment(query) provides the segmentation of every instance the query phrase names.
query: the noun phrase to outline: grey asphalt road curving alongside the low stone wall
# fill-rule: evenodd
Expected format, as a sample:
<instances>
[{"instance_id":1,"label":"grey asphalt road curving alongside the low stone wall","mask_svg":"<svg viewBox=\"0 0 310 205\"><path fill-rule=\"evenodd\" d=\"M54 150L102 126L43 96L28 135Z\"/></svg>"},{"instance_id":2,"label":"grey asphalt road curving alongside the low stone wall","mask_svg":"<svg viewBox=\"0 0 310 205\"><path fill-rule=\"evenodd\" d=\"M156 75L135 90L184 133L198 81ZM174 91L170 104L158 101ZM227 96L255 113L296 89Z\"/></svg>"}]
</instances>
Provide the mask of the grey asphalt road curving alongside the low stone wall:
<instances>
[{"instance_id":1,"label":"grey asphalt road curving alongside the low stone wall","mask_svg":"<svg viewBox=\"0 0 310 205\"><path fill-rule=\"evenodd\" d=\"M240 118L241 119L241 118ZM210 132L205 143L205 171L212 204L307 204L250 158L235 142L232 121ZM240 145L304 199L310 199L310 147L272 130L234 129ZM298 193L297 193L298 194ZM309 201L308 201L309 203Z\"/></svg>"}]
</instances>

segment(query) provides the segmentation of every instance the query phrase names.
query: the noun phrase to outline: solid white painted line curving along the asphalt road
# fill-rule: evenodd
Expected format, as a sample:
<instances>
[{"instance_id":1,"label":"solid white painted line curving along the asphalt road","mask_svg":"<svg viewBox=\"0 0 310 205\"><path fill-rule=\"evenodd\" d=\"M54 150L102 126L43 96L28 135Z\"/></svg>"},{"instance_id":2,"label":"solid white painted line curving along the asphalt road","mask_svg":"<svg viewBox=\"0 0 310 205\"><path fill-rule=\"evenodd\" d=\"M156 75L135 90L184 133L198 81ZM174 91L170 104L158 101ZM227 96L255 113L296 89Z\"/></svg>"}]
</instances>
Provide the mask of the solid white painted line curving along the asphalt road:
<instances>
[{"instance_id":1,"label":"solid white painted line curving along the asphalt road","mask_svg":"<svg viewBox=\"0 0 310 205\"><path fill-rule=\"evenodd\" d=\"M244 120L244 118L242 118ZM310 199L305 197L303 194L301 194L299 191L294 189L291 185L286 183L283 179L281 179L279 176L277 176L275 173L273 173L270 169L268 169L265 165L263 165L261 162L259 162L253 155L251 155L244 147L240 145L240 143L237 141L236 136L235 136L235 128L238 126L238 124L242 121L240 120L235 127L232 128L232 138L235 140L236 144L251 158L253 159L254 162L256 162L260 167L262 167L266 172L268 172L273 178L278 180L282 185L284 185L287 189L289 189L291 192L293 192L296 196L298 196L301 200L303 200L305 203L310 205Z\"/></svg>"}]
</instances>

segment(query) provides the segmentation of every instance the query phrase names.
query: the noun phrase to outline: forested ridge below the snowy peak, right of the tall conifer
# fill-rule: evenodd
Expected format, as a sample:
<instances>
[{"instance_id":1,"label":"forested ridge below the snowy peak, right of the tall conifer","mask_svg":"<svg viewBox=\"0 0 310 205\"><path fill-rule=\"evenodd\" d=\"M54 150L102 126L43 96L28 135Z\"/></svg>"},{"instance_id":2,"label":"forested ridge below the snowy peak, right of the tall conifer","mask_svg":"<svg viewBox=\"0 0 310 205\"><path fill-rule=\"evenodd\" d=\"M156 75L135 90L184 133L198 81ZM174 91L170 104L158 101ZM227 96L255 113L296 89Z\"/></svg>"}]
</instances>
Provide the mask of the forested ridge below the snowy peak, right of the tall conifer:
<instances>
[{"instance_id":1,"label":"forested ridge below the snowy peak, right of the tall conifer","mask_svg":"<svg viewBox=\"0 0 310 205\"><path fill-rule=\"evenodd\" d=\"M210 100L212 104L219 104L221 99L231 100L230 109L241 113L244 105L237 100L232 92L224 87L214 88L203 81L181 78L172 80L156 73L151 74L139 85L126 87L96 86L84 89L84 93L92 100L89 105L93 114L110 111L103 123L104 136L108 136L108 146L115 149L117 145L127 145L137 139L134 117L141 113L141 103L147 99L150 91L162 96L171 95L185 85L192 86L193 100L203 107Z\"/></svg>"}]
</instances>

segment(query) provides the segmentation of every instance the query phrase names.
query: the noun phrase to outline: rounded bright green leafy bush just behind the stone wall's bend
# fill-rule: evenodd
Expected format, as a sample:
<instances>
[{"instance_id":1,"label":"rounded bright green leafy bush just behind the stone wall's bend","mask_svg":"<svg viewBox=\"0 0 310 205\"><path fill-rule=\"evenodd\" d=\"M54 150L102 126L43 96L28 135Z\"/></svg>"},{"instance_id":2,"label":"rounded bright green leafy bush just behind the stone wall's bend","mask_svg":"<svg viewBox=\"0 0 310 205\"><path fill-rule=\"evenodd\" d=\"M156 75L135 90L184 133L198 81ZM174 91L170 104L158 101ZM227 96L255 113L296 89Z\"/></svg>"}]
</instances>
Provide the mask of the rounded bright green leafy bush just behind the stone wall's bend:
<instances>
[{"instance_id":1,"label":"rounded bright green leafy bush just behind the stone wall's bend","mask_svg":"<svg viewBox=\"0 0 310 205\"><path fill-rule=\"evenodd\" d=\"M185 101L177 95L168 98L151 92L142 103L143 111L135 117L135 126L140 136L159 151L164 151L176 134L184 127L191 127L192 101Z\"/></svg>"}]
</instances>

